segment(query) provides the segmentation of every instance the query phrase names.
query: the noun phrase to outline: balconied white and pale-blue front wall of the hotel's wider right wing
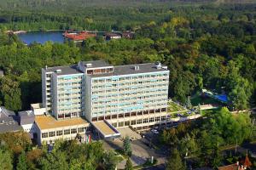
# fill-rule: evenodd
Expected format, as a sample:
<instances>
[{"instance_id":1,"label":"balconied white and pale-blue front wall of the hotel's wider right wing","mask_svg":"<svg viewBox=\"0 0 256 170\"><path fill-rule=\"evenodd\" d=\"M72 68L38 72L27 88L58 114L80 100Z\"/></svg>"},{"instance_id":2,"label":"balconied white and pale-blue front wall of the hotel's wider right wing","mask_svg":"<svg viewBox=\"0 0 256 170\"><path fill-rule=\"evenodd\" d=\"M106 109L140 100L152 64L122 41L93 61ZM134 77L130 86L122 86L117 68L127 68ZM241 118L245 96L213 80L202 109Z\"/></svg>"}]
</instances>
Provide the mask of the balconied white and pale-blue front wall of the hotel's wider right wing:
<instances>
[{"instance_id":1,"label":"balconied white and pale-blue front wall of the hotel's wider right wing","mask_svg":"<svg viewBox=\"0 0 256 170\"><path fill-rule=\"evenodd\" d=\"M93 77L91 82L92 121L166 111L169 71Z\"/></svg>"}]
</instances>

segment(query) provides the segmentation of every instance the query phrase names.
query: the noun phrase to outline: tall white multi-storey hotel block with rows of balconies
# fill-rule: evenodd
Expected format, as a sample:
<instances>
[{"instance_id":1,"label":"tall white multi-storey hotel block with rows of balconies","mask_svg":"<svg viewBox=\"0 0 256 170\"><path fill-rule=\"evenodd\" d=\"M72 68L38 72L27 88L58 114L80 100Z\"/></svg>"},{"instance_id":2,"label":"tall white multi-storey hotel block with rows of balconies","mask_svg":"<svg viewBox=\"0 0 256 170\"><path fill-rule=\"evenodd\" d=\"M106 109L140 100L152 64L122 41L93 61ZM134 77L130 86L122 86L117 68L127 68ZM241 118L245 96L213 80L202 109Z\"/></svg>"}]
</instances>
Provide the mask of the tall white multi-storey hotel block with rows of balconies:
<instances>
[{"instance_id":1,"label":"tall white multi-storey hotel block with rows of balconies","mask_svg":"<svg viewBox=\"0 0 256 170\"><path fill-rule=\"evenodd\" d=\"M160 63L113 66L104 61L42 69L43 105L56 119L85 116L113 127L166 122L169 71Z\"/></svg>"}]
</instances>

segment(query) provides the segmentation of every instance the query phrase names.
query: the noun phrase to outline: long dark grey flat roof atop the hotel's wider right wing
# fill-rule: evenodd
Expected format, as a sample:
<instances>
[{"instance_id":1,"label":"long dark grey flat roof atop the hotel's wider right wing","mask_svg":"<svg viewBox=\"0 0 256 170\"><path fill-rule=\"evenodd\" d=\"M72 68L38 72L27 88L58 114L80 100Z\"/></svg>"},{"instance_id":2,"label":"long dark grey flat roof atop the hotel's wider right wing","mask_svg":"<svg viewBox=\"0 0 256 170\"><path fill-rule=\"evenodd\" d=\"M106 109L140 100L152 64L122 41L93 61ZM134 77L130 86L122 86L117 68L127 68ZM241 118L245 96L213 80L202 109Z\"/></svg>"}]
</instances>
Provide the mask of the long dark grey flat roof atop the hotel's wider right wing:
<instances>
[{"instance_id":1,"label":"long dark grey flat roof atop the hotel's wider right wing","mask_svg":"<svg viewBox=\"0 0 256 170\"><path fill-rule=\"evenodd\" d=\"M138 70L135 70L135 66L138 66ZM165 65L162 65L162 66L165 66ZM137 65L119 65L119 66L113 67L112 73L90 75L90 77L110 77L110 76L121 76L121 75L160 72L160 71L168 71L168 70L164 69L163 67L160 67L159 69L157 69L154 63L137 64Z\"/></svg>"}]
</instances>

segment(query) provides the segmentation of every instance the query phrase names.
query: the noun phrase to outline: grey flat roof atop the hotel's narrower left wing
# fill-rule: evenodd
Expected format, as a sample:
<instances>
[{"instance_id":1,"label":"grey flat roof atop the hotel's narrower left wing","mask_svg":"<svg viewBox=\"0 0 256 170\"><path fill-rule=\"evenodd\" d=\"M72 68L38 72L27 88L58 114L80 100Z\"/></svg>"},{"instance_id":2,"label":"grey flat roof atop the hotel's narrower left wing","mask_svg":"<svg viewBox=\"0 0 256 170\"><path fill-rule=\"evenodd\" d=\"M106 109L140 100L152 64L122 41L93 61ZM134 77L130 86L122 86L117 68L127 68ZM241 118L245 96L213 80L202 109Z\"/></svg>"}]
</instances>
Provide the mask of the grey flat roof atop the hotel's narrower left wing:
<instances>
[{"instance_id":1,"label":"grey flat roof atop the hotel's narrower left wing","mask_svg":"<svg viewBox=\"0 0 256 170\"><path fill-rule=\"evenodd\" d=\"M57 73L56 70L61 70L61 72ZM82 71L79 71L79 69L77 68L77 65L48 67L48 68L44 68L44 71L55 72L55 74L60 76L83 73Z\"/></svg>"}]
</instances>

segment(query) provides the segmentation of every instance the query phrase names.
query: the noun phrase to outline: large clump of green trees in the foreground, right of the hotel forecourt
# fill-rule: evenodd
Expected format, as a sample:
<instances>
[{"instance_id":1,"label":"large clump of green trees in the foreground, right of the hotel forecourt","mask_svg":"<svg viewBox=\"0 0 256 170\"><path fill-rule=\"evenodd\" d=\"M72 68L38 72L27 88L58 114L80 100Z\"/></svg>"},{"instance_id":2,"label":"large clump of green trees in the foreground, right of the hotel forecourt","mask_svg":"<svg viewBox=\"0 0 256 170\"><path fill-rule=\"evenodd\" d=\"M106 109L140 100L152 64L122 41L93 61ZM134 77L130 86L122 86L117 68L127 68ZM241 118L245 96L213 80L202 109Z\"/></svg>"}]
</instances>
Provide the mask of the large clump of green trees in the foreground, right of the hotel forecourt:
<instances>
[{"instance_id":1,"label":"large clump of green trees in the foreground, right of the hotel forecourt","mask_svg":"<svg viewBox=\"0 0 256 170\"><path fill-rule=\"evenodd\" d=\"M249 114L232 115L227 108L222 108L208 112L207 119L180 123L177 127L164 130L160 135L160 144L172 148L167 170L183 170L186 165L217 169L220 165L241 161L240 158L245 155L236 153L235 147L227 151L228 148L255 137L256 131L252 132ZM253 167L256 167L256 160L253 157L250 159ZM185 164L184 161L189 163Z\"/></svg>"}]
</instances>

